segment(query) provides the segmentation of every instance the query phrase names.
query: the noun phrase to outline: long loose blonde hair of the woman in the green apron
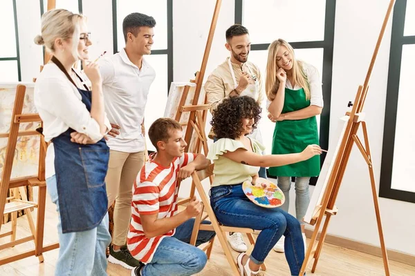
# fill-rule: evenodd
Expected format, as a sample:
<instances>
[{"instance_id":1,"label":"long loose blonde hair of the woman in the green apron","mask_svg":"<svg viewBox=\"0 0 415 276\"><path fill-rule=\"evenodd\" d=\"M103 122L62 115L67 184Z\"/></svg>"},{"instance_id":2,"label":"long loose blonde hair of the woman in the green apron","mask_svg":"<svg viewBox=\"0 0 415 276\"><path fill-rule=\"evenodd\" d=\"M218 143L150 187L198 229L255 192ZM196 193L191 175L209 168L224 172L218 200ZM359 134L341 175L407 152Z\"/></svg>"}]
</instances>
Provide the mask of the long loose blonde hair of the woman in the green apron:
<instances>
[{"instance_id":1,"label":"long loose blonde hair of the woman in the green apron","mask_svg":"<svg viewBox=\"0 0 415 276\"><path fill-rule=\"evenodd\" d=\"M279 80L277 79L277 52L279 47L285 46L293 56L293 80L294 83L297 84L299 87L304 88L304 93L306 94L306 99L310 99L310 83L308 82L307 75L304 73L304 69L302 66L302 61L297 61L294 55L294 49L291 45L286 42L284 39L277 39L270 43L268 47L268 61L266 64L266 80L265 80L265 89L266 89L266 97L270 101L275 99L275 95L277 95L277 90L279 87ZM293 83L293 85L294 85Z\"/></svg>"}]
</instances>

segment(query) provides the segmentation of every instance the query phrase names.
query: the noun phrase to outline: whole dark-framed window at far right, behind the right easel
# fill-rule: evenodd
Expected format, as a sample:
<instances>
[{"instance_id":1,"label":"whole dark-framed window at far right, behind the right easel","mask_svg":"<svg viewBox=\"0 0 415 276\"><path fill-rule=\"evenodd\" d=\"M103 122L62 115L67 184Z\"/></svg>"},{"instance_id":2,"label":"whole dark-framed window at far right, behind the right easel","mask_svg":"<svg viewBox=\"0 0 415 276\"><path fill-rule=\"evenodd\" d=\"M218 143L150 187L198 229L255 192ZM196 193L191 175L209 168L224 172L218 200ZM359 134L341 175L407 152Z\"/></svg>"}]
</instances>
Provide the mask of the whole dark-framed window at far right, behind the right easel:
<instances>
[{"instance_id":1,"label":"whole dark-framed window at far right, behind the right easel","mask_svg":"<svg viewBox=\"0 0 415 276\"><path fill-rule=\"evenodd\" d=\"M415 1L397 0L391 50L379 196L415 203Z\"/></svg>"}]
</instances>

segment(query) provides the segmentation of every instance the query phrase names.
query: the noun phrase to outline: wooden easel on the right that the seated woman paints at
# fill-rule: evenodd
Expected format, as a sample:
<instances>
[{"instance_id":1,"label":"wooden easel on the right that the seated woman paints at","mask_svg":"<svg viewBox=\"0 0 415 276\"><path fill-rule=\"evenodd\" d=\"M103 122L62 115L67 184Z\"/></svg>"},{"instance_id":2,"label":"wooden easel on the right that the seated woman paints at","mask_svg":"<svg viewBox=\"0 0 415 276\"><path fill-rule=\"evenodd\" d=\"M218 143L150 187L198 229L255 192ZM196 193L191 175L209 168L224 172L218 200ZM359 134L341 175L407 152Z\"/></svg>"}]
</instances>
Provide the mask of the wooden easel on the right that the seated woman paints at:
<instances>
[{"instance_id":1,"label":"wooden easel on the right that the seated woman paints at","mask_svg":"<svg viewBox=\"0 0 415 276\"><path fill-rule=\"evenodd\" d=\"M383 21L383 25L380 30L378 42L376 43L376 48L374 50L374 55L372 56L372 59L371 59L371 63L370 63L369 70L366 75L365 83L363 86L359 86L356 99L353 103L353 108L351 112L347 112L347 115L349 116L349 121L347 122L347 127L344 132L344 136L342 138L340 148L338 150L338 155L335 158L335 163L333 166L333 170L331 171L328 184L326 186L326 189L324 190L322 204L319 210L317 210L317 213L315 213L315 215L313 216L313 220L311 221L311 224L315 225L315 230L311 237L311 242L310 244L308 244L306 256L304 258L304 262L302 264L302 268L300 270L299 276L304 275L308 262L312 260L310 259L311 255L313 255L313 259L314 259L313 268L311 269L311 272L312 273L315 272L315 268L317 266L317 262L320 257L320 252L322 250L324 239L326 237L327 228L329 226L331 216L336 215L337 213L337 208L334 205L335 199L338 196L340 184L342 183L342 179L344 175L344 170L346 170L347 162L349 161L351 148L353 147L353 144L356 144L356 146L358 146L358 149L360 150L360 153L362 153L362 157L365 159L367 166L369 168L369 176L370 176L370 181L371 181L372 196L374 198L376 221L378 223L380 246L382 248L383 265L385 267L385 275L389 276L389 262L387 259L385 241L383 239L382 223L380 221L378 193L376 191L374 168L373 168L373 164L371 160L369 137L367 136L365 113L362 112L362 110L365 104L367 90L369 89L369 79L371 76L371 71L374 68L376 56L378 55L380 43L382 41L383 34L385 33L385 28L387 26L387 22L389 21L389 15L391 14L391 10L394 7L394 3L395 3L395 0L391 0L389 3L389 8L387 10L385 20ZM362 145L357 135L360 125L362 126L362 130L363 130L363 138L365 139L365 146ZM318 244L315 246L317 234L319 232L320 225L322 224L324 215L326 215L326 220L324 221L324 226L322 228L322 233L320 235Z\"/></svg>"}]
</instances>

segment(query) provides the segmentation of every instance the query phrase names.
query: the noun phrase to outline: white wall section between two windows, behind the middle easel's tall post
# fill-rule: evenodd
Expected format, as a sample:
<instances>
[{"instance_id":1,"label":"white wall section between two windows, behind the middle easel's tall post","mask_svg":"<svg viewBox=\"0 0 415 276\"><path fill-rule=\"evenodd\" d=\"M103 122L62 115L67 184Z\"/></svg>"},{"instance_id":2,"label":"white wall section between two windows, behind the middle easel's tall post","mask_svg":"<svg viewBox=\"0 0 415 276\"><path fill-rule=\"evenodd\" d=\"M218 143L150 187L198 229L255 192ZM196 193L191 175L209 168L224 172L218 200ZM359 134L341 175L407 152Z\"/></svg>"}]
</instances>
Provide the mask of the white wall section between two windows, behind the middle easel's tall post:
<instances>
[{"instance_id":1,"label":"white wall section between two windows, behind the middle easel's tall post","mask_svg":"<svg viewBox=\"0 0 415 276\"><path fill-rule=\"evenodd\" d=\"M174 81L194 79L194 73L201 69L215 3L215 0L173 1ZM204 79L228 57L225 31L233 23L234 1L222 1Z\"/></svg>"}]
</instances>

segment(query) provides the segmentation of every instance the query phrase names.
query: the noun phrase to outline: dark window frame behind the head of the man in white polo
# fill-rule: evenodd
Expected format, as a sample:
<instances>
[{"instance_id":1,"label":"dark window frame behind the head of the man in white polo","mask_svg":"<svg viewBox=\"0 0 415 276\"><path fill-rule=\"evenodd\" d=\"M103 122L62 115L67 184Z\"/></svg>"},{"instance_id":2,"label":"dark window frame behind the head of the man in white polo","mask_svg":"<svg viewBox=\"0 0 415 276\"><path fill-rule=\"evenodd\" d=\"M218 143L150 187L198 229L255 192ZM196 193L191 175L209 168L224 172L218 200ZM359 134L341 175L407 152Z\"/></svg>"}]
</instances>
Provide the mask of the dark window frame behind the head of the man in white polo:
<instances>
[{"instance_id":1,"label":"dark window frame behind the head of the man in white polo","mask_svg":"<svg viewBox=\"0 0 415 276\"><path fill-rule=\"evenodd\" d=\"M118 18L117 1L112 0L113 15L113 52L118 52ZM151 50L151 55L167 55L167 95L173 81L173 0L166 0L167 4L167 49Z\"/></svg>"}]
</instances>

